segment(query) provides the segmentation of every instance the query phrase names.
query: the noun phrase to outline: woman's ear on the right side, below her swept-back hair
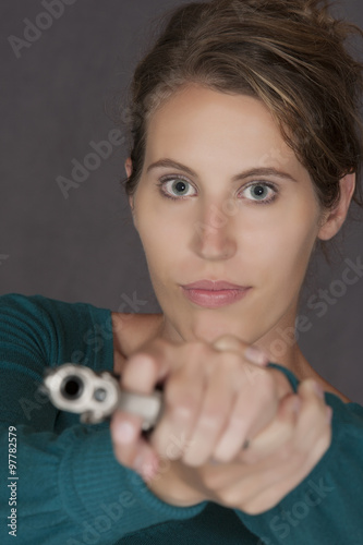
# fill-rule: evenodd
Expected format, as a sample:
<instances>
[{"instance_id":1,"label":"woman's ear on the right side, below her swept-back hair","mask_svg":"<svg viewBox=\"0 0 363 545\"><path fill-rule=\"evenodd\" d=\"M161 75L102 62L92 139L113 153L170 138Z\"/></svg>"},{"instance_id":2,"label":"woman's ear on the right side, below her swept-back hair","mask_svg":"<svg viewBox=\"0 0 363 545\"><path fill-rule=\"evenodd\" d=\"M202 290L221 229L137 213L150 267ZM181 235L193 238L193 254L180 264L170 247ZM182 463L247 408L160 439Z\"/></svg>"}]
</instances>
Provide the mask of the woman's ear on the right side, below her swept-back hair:
<instances>
[{"instance_id":1,"label":"woman's ear on the right side, below her swept-back hair","mask_svg":"<svg viewBox=\"0 0 363 545\"><path fill-rule=\"evenodd\" d=\"M323 215L322 227L317 234L320 240L332 239L343 225L355 189L355 173L341 178L339 185L340 198L338 204Z\"/></svg>"}]
</instances>

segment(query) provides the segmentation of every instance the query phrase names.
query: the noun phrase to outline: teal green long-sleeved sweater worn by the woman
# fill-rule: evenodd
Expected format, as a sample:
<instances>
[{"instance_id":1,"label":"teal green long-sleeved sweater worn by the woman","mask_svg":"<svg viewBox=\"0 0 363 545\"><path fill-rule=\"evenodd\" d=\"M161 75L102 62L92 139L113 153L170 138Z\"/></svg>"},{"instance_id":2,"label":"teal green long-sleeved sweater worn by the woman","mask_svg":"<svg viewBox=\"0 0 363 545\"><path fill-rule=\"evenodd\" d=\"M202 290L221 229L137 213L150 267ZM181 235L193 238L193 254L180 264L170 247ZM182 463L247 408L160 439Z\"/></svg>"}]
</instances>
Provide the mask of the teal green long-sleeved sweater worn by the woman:
<instances>
[{"instance_id":1,"label":"teal green long-sleeved sweater worn by the woman","mask_svg":"<svg viewBox=\"0 0 363 545\"><path fill-rule=\"evenodd\" d=\"M361 405L326 393L334 409L331 446L275 508L257 516L210 501L181 508L158 499L118 463L108 422L81 424L38 392L44 368L64 362L112 371L110 311L40 295L0 296L1 544L363 543ZM16 428L12 475L9 426Z\"/></svg>"}]
</instances>

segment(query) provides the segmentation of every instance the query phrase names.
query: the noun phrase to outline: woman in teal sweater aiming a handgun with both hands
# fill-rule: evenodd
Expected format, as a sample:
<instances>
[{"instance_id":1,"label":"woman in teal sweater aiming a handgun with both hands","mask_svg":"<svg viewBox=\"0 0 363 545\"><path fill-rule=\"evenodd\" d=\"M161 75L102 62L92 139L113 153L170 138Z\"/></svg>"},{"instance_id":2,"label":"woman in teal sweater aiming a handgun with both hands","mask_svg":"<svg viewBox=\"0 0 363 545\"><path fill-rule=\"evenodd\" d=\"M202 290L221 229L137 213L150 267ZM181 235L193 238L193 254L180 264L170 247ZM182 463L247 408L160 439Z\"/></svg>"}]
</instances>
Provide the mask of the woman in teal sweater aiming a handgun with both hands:
<instances>
[{"instance_id":1,"label":"woman in teal sweater aiming a handgun with both hands","mask_svg":"<svg viewBox=\"0 0 363 545\"><path fill-rule=\"evenodd\" d=\"M137 65L125 187L162 314L1 298L21 543L362 540L362 408L297 342L269 363L313 250L361 202L354 28L317 4L182 5ZM132 391L162 384L149 437L136 416L85 426L36 397L75 353Z\"/></svg>"}]
</instances>

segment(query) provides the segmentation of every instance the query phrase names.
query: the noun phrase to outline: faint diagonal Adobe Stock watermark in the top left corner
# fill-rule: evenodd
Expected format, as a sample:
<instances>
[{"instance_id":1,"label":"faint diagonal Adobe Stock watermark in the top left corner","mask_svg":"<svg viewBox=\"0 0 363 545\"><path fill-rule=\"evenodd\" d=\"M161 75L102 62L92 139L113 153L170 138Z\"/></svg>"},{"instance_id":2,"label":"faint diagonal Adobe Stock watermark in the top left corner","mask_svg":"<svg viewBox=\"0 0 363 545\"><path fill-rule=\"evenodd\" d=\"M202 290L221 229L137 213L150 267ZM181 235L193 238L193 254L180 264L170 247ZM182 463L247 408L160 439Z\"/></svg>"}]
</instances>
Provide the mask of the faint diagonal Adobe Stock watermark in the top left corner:
<instances>
[{"instance_id":1,"label":"faint diagonal Adobe Stock watermark in the top left corner","mask_svg":"<svg viewBox=\"0 0 363 545\"><path fill-rule=\"evenodd\" d=\"M39 12L34 23L29 19L23 19L25 24L23 38L14 35L8 37L16 59L22 57L21 51L24 47L28 49L32 44L38 41L43 33L52 26L55 19L60 19L63 15L65 5L73 5L75 2L76 0L43 0L41 5L47 11Z\"/></svg>"}]
</instances>

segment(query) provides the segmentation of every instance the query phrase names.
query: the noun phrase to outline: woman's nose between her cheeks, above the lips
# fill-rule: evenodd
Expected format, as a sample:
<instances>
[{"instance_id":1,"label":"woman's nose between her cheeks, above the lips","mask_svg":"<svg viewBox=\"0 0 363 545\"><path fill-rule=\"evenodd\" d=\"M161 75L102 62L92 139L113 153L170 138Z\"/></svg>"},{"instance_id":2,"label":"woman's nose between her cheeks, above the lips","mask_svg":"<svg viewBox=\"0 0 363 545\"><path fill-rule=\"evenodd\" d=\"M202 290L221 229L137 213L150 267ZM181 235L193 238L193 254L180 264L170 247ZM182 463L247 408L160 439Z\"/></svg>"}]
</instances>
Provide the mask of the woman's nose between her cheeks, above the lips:
<instances>
[{"instance_id":1,"label":"woman's nose between her cheeks, above the lips","mask_svg":"<svg viewBox=\"0 0 363 545\"><path fill-rule=\"evenodd\" d=\"M230 259L237 252L233 218L209 205L193 226L193 251L203 259Z\"/></svg>"}]
</instances>

